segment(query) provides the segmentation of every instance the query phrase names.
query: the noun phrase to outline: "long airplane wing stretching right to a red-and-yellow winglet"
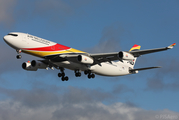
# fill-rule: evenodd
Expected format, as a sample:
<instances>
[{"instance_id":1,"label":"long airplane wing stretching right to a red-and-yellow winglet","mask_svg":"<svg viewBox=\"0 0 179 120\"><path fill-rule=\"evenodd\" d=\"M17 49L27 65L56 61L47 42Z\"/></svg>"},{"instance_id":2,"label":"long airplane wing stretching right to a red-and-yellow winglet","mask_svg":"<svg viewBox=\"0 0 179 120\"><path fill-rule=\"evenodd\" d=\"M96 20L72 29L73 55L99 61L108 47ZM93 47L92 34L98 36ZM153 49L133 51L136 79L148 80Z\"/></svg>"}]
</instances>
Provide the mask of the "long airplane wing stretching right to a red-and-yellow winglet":
<instances>
[{"instance_id":1,"label":"long airplane wing stretching right to a red-and-yellow winglet","mask_svg":"<svg viewBox=\"0 0 179 120\"><path fill-rule=\"evenodd\" d=\"M144 54L149 54L149 53L153 53L153 52L159 52L159 51L163 51L163 50L167 50L167 49L171 49L173 48L173 46L175 46L176 44L172 44L168 47L164 47L164 48L156 48L156 49L148 49L148 50L136 50L136 51L126 51L127 54L133 55L134 57L139 57L141 55ZM79 55L85 55L86 57L90 57L93 58L94 60L94 64L99 64L102 62L109 62L112 63L111 61L115 61L115 60L120 60L121 62L123 62L123 58L119 57L119 52L112 52L112 53L95 53L95 54L87 54L87 53L82 53L82 54L61 54L61 55L54 55L54 56L49 56L49 58L46 59L51 59L52 61L65 61L65 60L70 60L70 61L74 61L74 62L78 62L77 58ZM43 61L44 63L49 63L49 61ZM52 65L54 66L54 65Z\"/></svg>"}]
</instances>

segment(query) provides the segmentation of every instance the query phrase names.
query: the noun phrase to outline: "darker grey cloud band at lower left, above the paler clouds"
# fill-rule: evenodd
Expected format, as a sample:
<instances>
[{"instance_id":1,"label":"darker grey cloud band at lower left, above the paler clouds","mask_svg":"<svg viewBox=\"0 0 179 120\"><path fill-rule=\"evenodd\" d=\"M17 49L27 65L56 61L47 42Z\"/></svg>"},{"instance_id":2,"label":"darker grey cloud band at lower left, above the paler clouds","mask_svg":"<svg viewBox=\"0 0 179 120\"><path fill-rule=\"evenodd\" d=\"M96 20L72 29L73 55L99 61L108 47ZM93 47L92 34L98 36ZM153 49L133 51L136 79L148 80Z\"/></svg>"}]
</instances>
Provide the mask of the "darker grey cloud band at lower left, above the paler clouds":
<instances>
[{"instance_id":1,"label":"darker grey cloud band at lower left, above the paler clouds","mask_svg":"<svg viewBox=\"0 0 179 120\"><path fill-rule=\"evenodd\" d=\"M44 86L44 85L43 85ZM38 108L42 106L56 104L78 104L85 102L105 101L112 98L112 95L101 90L89 90L85 88L59 88L57 86L48 86L46 88L33 88L32 90L11 90L0 88L0 92L11 97L14 101L20 101L24 106ZM55 88L55 89L54 89ZM59 92L60 91L60 92ZM63 97L60 97L63 94Z\"/></svg>"}]
</instances>

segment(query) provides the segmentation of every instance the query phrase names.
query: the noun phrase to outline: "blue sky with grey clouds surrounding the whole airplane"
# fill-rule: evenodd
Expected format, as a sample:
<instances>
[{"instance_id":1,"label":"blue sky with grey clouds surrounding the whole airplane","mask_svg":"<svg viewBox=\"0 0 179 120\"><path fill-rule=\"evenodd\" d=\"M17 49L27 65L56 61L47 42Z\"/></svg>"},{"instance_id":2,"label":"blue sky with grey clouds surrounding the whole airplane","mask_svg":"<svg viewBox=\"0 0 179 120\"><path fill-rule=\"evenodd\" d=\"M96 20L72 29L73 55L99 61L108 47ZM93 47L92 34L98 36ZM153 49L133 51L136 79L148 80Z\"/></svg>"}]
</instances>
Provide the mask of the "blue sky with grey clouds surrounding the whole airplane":
<instances>
[{"instance_id":1,"label":"blue sky with grey clouds surrounding the whole airplane","mask_svg":"<svg viewBox=\"0 0 179 120\"><path fill-rule=\"evenodd\" d=\"M177 0L1 0L0 118L178 120L178 45L141 56L135 66L160 69L92 80L66 70L70 80L62 82L58 70L22 70L23 62L38 58L17 60L3 41L15 31L89 53L166 47L179 41L178 12Z\"/></svg>"}]
</instances>

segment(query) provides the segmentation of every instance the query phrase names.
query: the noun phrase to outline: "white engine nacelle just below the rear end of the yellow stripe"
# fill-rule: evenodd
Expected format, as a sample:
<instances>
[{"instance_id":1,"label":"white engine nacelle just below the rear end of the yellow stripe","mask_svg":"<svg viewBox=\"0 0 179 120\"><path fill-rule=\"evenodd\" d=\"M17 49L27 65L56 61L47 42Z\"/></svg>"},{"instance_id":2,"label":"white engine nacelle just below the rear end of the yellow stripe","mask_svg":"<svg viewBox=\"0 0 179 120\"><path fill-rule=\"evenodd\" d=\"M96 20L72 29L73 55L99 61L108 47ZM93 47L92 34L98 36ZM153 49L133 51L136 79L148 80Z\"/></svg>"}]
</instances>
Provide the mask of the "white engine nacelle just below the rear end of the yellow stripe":
<instances>
[{"instance_id":1,"label":"white engine nacelle just below the rear end of the yellow stripe","mask_svg":"<svg viewBox=\"0 0 179 120\"><path fill-rule=\"evenodd\" d=\"M78 55L78 61L84 64L93 64L93 58L86 56L86 55Z\"/></svg>"}]
</instances>

